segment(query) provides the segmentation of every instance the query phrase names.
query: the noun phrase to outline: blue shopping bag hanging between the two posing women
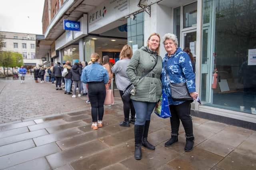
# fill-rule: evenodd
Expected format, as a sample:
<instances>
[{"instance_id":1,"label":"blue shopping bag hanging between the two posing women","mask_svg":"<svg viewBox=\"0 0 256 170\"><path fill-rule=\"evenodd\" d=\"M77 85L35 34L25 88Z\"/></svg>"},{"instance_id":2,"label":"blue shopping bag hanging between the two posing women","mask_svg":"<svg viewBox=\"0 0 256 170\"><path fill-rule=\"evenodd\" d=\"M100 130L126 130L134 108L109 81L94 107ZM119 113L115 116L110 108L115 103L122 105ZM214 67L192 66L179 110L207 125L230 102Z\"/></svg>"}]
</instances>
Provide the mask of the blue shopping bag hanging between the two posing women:
<instances>
[{"instance_id":1,"label":"blue shopping bag hanging between the two posing women","mask_svg":"<svg viewBox=\"0 0 256 170\"><path fill-rule=\"evenodd\" d=\"M162 96L160 98L160 101L156 104L154 113L162 118L172 117L169 108L168 98L166 93L164 92L164 89L162 89Z\"/></svg>"}]
</instances>

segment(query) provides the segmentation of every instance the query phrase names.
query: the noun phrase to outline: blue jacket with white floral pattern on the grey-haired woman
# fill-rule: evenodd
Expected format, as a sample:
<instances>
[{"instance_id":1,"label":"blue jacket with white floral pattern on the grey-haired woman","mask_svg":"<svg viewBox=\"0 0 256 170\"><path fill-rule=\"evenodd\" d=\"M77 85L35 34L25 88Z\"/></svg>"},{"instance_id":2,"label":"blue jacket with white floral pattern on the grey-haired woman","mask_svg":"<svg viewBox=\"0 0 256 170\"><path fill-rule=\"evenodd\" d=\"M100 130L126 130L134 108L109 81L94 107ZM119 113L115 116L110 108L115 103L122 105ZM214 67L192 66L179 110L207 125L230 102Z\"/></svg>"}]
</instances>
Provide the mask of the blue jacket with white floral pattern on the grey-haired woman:
<instances>
[{"instance_id":1,"label":"blue jacket with white floral pattern on the grey-haired woman","mask_svg":"<svg viewBox=\"0 0 256 170\"><path fill-rule=\"evenodd\" d=\"M182 104L185 101L173 101L171 96L171 88L166 77L166 70L169 76L170 83L186 82L188 92L196 92L195 74L193 72L192 63L188 54L180 47L173 55L165 55L162 68L162 84L168 97L169 105Z\"/></svg>"}]
</instances>

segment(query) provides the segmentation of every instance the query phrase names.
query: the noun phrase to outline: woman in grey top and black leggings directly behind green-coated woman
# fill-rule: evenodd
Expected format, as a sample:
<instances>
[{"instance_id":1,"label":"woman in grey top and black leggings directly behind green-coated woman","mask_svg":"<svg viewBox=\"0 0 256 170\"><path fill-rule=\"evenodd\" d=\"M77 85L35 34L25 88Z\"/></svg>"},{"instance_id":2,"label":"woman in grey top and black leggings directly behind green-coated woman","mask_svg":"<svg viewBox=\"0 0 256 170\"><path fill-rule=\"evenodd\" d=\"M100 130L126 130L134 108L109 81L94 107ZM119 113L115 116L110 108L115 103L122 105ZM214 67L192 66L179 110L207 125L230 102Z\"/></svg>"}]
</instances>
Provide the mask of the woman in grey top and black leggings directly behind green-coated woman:
<instances>
[{"instance_id":1,"label":"woman in grey top and black leggings directly behind green-coated woman","mask_svg":"<svg viewBox=\"0 0 256 170\"><path fill-rule=\"evenodd\" d=\"M126 87L131 84L126 74L126 68L130 62L130 59L132 58L132 48L129 45L124 45L119 58L120 60L117 61L114 66L112 66L111 70L112 73L116 74L116 86L119 90L120 96L122 97ZM119 125L130 127L130 123L135 123L135 109L131 99L126 101L122 98L122 102L124 110L124 121L121 121ZM130 111L131 119L129 121Z\"/></svg>"}]
</instances>

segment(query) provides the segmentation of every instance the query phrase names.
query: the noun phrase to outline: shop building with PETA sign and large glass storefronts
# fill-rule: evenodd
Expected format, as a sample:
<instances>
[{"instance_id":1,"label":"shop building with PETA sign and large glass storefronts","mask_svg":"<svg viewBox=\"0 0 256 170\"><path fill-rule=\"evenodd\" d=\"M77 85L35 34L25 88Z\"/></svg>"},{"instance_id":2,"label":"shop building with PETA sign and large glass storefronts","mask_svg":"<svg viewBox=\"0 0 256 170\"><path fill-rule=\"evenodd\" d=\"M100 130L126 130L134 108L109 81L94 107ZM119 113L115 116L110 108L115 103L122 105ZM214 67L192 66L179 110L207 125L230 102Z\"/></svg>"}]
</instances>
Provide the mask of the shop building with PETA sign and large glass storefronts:
<instances>
[{"instance_id":1,"label":"shop building with PETA sign and large glass storefronts","mask_svg":"<svg viewBox=\"0 0 256 170\"><path fill-rule=\"evenodd\" d=\"M89 61L96 52L114 64L124 44L135 51L153 32L174 33L196 60L202 104L193 102L192 114L255 130L254 8L256 0L66 0L44 41L54 42L56 61ZM64 29L63 20L80 21L80 31Z\"/></svg>"}]
</instances>

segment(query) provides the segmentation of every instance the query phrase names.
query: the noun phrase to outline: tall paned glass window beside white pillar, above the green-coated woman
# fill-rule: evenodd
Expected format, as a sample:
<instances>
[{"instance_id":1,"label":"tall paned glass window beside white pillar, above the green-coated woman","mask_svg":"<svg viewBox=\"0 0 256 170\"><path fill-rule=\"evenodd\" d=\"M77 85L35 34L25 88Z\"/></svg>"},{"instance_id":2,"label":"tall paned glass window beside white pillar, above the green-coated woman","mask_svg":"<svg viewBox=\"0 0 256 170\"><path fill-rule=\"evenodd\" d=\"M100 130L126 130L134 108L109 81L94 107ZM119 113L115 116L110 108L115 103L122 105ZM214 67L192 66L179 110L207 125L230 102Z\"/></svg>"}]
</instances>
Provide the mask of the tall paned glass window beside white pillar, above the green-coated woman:
<instances>
[{"instance_id":1,"label":"tall paned glass window beside white pillar, above the green-coated woman","mask_svg":"<svg viewBox=\"0 0 256 170\"><path fill-rule=\"evenodd\" d=\"M127 41L128 45L138 45L140 49L144 45L144 12L127 19Z\"/></svg>"}]
</instances>

